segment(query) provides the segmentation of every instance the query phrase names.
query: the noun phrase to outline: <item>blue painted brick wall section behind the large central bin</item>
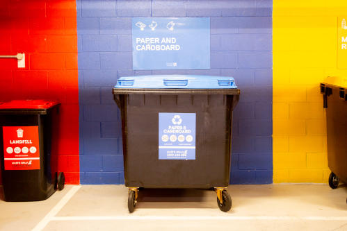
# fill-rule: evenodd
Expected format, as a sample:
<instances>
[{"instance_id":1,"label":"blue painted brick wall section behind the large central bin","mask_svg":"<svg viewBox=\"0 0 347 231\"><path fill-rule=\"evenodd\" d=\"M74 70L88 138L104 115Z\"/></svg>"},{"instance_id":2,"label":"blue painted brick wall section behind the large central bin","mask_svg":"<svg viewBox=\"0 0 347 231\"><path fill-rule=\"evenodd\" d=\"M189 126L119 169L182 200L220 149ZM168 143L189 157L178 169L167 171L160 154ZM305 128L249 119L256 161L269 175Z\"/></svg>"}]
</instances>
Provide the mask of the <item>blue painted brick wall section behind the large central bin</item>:
<instances>
[{"instance_id":1,"label":"blue painted brick wall section behind the large central bin","mask_svg":"<svg viewBox=\"0 0 347 231\"><path fill-rule=\"evenodd\" d=\"M271 183L272 1L77 0L82 184L124 182L120 113L111 88L120 76L234 76L232 183ZM134 71L131 17L211 17L211 70Z\"/></svg>"}]
</instances>

